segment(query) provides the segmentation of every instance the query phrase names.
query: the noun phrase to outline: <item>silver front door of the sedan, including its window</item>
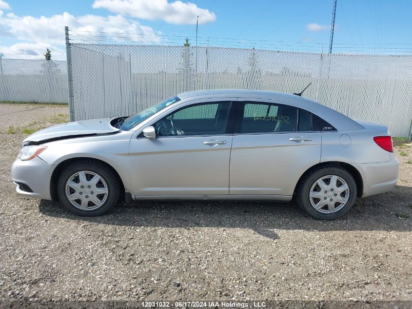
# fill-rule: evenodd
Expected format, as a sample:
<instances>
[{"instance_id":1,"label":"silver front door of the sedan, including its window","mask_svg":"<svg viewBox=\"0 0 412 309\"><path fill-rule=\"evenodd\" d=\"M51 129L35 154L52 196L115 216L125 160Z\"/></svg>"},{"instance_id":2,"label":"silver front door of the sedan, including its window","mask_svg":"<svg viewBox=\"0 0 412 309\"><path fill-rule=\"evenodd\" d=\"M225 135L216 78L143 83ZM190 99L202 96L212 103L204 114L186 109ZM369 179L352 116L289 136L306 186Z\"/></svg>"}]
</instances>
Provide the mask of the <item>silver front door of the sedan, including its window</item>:
<instances>
[{"instance_id":1,"label":"silver front door of the sedan, including its window","mask_svg":"<svg viewBox=\"0 0 412 309\"><path fill-rule=\"evenodd\" d=\"M155 127L156 139L142 134L132 139L129 169L135 195L228 195L235 100L197 100L175 108L148 125Z\"/></svg>"}]
</instances>

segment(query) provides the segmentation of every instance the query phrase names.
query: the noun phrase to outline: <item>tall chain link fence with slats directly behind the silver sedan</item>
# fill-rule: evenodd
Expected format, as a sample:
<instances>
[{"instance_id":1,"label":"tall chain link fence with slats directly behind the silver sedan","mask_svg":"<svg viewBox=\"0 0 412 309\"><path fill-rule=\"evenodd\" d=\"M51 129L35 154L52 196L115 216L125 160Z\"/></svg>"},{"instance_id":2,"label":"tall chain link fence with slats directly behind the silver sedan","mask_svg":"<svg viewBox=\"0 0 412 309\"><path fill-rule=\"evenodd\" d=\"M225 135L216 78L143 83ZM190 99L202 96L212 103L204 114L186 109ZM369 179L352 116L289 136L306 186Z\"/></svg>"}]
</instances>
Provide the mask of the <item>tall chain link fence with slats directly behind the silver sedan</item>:
<instances>
[{"instance_id":1,"label":"tall chain link fence with slats directly behind the silver sedan","mask_svg":"<svg viewBox=\"0 0 412 309\"><path fill-rule=\"evenodd\" d=\"M72 119L132 115L179 92L301 91L352 118L409 136L412 57L220 47L70 44Z\"/></svg>"}]
</instances>

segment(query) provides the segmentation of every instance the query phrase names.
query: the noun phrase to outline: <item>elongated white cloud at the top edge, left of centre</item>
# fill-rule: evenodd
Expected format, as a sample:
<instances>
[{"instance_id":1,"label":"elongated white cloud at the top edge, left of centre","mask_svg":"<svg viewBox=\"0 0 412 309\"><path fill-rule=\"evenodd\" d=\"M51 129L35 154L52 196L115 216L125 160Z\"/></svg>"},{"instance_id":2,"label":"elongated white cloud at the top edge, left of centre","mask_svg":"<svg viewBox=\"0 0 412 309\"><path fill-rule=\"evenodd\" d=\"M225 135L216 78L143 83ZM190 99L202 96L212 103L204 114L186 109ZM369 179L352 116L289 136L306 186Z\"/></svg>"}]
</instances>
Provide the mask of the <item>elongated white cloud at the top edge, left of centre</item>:
<instances>
[{"instance_id":1,"label":"elongated white cloud at the top edge, left of centre","mask_svg":"<svg viewBox=\"0 0 412 309\"><path fill-rule=\"evenodd\" d=\"M175 24L196 24L216 20L216 15L194 3L168 0L95 0L93 8L129 15L144 20L163 20Z\"/></svg>"}]
</instances>

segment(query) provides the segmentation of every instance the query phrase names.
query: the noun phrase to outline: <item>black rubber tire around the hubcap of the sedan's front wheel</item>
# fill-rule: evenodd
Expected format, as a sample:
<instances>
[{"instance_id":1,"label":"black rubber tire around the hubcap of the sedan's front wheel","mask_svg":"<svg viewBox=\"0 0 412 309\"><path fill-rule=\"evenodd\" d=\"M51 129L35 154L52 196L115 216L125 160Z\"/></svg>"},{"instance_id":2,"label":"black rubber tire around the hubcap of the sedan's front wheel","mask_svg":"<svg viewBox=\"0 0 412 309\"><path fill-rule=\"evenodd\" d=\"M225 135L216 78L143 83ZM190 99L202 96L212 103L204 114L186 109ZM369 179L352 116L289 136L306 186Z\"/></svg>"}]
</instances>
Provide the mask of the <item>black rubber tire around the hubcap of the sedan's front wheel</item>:
<instances>
[{"instance_id":1,"label":"black rubber tire around the hubcap of the sedan's front wheel","mask_svg":"<svg viewBox=\"0 0 412 309\"><path fill-rule=\"evenodd\" d=\"M108 193L104 204L94 210L82 210L73 206L66 196L66 182L70 176L79 171L91 171L95 172L103 178L107 184ZM57 192L61 204L68 210L79 216L94 217L100 216L111 210L113 206L118 202L120 196L120 180L116 172L109 166L93 161L93 160L79 160L68 165L61 173L58 183ZM92 192L93 193L93 192Z\"/></svg>"}]
</instances>

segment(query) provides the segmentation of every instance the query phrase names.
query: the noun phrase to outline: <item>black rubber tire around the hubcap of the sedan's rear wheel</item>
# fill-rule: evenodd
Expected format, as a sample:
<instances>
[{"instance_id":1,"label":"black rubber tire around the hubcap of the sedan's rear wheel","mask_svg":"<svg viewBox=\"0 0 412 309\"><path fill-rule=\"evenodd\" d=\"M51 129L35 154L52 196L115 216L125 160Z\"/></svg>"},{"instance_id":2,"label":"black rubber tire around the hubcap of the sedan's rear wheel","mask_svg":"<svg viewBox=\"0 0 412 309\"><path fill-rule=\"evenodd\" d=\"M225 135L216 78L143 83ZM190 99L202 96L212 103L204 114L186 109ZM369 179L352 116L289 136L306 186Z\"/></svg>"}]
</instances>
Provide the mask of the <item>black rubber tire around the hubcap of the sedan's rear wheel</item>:
<instances>
[{"instance_id":1,"label":"black rubber tire around the hubcap of the sedan's rear wheel","mask_svg":"<svg viewBox=\"0 0 412 309\"><path fill-rule=\"evenodd\" d=\"M349 186L349 199L345 206L334 213L322 213L312 206L309 199L309 192L312 185L321 177L336 175L341 177ZM334 220L345 215L354 205L357 195L357 188L352 174L339 165L323 165L307 173L300 181L296 191L296 201L312 217L319 220ZM337 204L339 205L339 204Z\"/></svg>"}]
</instances>

